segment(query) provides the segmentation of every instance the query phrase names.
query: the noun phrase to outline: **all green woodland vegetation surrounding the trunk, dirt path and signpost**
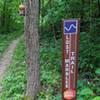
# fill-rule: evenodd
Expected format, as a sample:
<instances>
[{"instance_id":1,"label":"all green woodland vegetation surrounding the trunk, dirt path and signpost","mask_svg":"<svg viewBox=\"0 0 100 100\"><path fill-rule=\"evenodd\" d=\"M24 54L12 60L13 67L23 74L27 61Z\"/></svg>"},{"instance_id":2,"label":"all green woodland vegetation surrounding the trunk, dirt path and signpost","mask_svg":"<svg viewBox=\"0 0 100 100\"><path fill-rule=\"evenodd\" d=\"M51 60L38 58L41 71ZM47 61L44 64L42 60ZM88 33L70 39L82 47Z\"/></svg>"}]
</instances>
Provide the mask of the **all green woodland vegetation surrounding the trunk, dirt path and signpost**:
<instances>
[{"instance_id":1,"label":"all green woodland vegetation surrounding the trunk, dirt path and signpost","mask_svg":"<svg viewBox=\"0 0 100 100\"><path fill-rule=\"evenodd\" d=\"M20 0L0 0L0 53L7 48L8 41L23 34L19 4ZM61 100L61 25L63 19L70 18L81 20L78 100L100 100L100 0L40 0L39 9L41 91L38 100ZM22 39L2 82L2 99L25 98L25 59Z\"/></svg>"}]
</instances>

